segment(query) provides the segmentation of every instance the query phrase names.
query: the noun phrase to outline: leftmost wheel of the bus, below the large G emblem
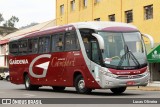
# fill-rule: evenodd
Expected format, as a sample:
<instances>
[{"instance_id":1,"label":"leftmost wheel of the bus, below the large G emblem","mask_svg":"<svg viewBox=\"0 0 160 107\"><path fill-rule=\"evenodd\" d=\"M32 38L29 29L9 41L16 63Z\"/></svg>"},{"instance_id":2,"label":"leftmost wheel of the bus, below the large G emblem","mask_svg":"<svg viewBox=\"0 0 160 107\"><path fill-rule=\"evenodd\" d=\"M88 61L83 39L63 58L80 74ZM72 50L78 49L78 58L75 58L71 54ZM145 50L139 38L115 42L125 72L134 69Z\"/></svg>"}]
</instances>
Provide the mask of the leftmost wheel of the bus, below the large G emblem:
<instances>
[{"instance_id":1,"label":"leftmost wheel of the bus, below the large G emblem","mask_svg":"<svg viewBox=\"0 0 160 107\"><path fill-rule=\"evenodd\" d=\"M39 86L32 85L30 83L30 78L29 78L28 74L25 75L25 77L24 77L24 84L25 84L26 90L38 90L38 88L39 88Z\"/></svg>"}]
</instances>

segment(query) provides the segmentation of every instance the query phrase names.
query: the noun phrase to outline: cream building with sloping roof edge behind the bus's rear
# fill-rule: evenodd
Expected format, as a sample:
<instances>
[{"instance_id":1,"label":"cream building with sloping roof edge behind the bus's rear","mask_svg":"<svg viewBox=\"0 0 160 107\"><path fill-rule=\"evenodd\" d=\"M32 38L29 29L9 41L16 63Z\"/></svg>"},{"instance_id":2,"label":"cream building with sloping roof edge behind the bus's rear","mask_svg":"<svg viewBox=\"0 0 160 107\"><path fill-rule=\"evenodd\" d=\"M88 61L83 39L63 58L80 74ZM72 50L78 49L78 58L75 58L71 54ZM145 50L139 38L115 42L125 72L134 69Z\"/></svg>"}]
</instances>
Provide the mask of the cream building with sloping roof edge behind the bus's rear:
<instances>
[{"instance_id":1,"label":"cream building with sloping roof edge behind the bus's rear","mask_svg":"<svg viewBox=\"0 0 160 107\"><path fill-rule=\"evenodd\" d=\"M40 23L38 25L18 30L16 32L10 33L0 39L0 67L8 67L8 42L10 38L16 37L16 36L22 36L27 33L33 33L39 30L47 29L49 27L55 26L55 20L50 20L44 23Z\"/></svg>"}]
</instances>

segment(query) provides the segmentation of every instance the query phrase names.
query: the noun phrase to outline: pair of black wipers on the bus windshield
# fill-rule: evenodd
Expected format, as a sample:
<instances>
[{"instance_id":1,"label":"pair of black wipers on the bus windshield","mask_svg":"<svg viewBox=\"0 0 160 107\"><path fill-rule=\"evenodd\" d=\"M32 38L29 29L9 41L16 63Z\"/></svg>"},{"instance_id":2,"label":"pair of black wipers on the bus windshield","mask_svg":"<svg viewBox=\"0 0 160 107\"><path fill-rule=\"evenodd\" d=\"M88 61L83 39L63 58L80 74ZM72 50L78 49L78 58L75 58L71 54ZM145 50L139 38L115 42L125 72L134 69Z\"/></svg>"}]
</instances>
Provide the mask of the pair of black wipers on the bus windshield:
<instances>
[{"instance_id":1,"label":"pair of black wipers on the bus windshield","mask_svg":"<svg viewBox=\"0 0 160 107\"><path fill-rule=\"evenodd\" d=\"M140 64L139 64L138 60L133 55L133 53L129 50L127 44L124 45L124 49L125 49L125 54L121 57L121 59L118 63L117 69L119 69L122 66L125 59L128 60L128 64L129 64L129 59L132 59L133 62L137 65L137 67L140 68Z\"/></svg>"}]
</instances>

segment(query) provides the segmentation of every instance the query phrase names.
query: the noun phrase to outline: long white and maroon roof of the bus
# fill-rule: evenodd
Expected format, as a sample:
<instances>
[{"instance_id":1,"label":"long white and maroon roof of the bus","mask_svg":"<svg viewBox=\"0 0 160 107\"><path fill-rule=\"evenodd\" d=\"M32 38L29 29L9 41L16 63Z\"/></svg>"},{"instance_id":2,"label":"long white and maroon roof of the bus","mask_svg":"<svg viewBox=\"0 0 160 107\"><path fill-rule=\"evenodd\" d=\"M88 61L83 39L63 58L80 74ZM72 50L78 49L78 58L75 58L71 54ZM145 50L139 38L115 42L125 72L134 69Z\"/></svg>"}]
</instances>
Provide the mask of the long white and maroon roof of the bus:
<instances>
[{"instance_id":1,"label":"long white and maroon roof of the bus","mask_svg":"<svg viewBox=\"0 0 160 107\"><path fill-rule=\"evenodd\" d=\"M34 37L37 35L45 35L56 32L66 31L68 28L78 28L78 29L94 29L94 30L105 30L105 31L138 31L138 29L130 24L121 23L121 22L107 22L107 21L90 21L90 22L77 22L71 23L64 26L54 26L47 28L45 30L40 30L32 33L27 33L21 35L21 37L14 37L10 41L18 40L21 38Z\"/></svg>"}]
</instances>

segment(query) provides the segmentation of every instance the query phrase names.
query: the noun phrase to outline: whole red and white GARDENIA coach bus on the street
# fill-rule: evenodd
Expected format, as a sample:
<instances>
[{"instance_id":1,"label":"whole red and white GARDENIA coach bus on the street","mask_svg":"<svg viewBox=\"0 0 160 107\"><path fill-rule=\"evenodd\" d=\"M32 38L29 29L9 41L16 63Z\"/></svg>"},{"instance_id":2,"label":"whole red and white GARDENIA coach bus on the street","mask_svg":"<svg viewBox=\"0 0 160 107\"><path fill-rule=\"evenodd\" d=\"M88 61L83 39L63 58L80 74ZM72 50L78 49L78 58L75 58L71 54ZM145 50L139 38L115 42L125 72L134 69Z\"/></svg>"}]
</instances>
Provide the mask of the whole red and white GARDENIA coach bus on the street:
<instances>
[{"instance_id":1,"label":"whole red and white GARDENIA coach bus on the street","mask_svg":"<svg viewBox=\"0 0 160 107\"><path fill-rule=\"evenodd\" d=\"M9 41L10 81L27 90L75 87L78 93L110 89L123 93L149 81L145 44L133 25L78 22L15 37Z\"/></svg>"}]
</instances>

